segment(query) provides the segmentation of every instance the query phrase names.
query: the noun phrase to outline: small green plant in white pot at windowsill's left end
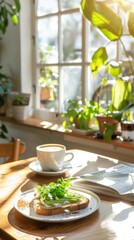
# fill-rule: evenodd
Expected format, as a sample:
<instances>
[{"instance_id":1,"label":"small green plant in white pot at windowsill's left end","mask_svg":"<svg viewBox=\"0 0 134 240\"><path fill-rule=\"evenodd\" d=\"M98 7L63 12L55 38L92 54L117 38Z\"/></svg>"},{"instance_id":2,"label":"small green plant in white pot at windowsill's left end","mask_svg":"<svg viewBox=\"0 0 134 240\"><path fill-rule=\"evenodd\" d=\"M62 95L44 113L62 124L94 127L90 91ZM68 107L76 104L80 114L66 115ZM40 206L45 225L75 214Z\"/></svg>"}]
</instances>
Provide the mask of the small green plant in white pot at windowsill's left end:
<instances>
[{"instance_id":1,"label":"small green plant in white pot at windowsill's left end","mask_svg":"<svg viewBox=\"0 0 134 240\"><path fill-rule=\"evenodd\" d=\"M15 95L12 99L12 111L13 117L16 120L25 120L29 116L30 107L30 94L19 93Z\"/></svg>"}]
</instances>

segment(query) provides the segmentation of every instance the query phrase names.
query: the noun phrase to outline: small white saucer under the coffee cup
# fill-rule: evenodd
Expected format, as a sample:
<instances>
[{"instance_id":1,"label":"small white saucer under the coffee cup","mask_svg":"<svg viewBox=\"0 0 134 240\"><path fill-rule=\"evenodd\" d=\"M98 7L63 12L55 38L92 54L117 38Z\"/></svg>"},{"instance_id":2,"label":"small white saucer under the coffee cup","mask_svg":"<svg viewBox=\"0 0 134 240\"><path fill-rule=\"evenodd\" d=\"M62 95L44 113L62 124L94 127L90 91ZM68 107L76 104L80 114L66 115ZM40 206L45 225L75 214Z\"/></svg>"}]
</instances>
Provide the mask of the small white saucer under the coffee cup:
<instances>
[{"instance_id":1,"label":"small white saucer under the coffee cup","mask_svg":"<svg viewBox=\"0 0 134 240\"><path fill-rule=\"evenodd\" d=\"M34 162L31 162L31 163L29 164L29 168L30 168L32 171L34 171L34 172L36 172L36 173L38 173L38 174L40 174L40 175L43 175L43 176L58 176L58 175L61 175L61 174L65 173L65 172L67 171L67 168L63 168L62 170L57 171L57 172L55 172L55 171L45 171L45 170L42 170L42 168L41 168L41 166L39 165L39 162L38 162L37 160L34 161Z\"/></svg>"}]
</instances>

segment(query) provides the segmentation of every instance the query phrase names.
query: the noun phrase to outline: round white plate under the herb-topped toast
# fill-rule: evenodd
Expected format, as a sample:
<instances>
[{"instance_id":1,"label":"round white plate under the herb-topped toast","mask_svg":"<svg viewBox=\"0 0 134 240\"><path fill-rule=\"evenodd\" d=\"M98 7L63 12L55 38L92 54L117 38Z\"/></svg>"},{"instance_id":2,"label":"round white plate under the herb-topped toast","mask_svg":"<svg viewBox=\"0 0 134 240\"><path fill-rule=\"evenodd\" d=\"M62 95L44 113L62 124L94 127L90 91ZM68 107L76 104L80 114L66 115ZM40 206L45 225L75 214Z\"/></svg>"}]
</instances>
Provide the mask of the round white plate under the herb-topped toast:
<instances>
[{"instance_id":1,"label":"round white plate under the herb-topped toast","mask_svg":"<svg viewBox=\"0 0 134 240\"><path fill-rule=\"evenodd\" d=\"M82 194L83 196L89 198L90 201L87 208L77 210L77 211L72 211L71 213L62 213L62 214L56 214L52 216L44 216L44 215L36 214L32 204L32 201L34 198L33 189L26 191L22 193L20 196L18 196L14 202L14 207L19 213L21 213L25 217L28 217L30 219L34 219L37 221L42 221L42 222L74 221L74 220L91 215L99 208L100 199L95 193L85 189L80 189L80 188L72 188L72 189L77 193Z\"/></svg>"}]
</instances>

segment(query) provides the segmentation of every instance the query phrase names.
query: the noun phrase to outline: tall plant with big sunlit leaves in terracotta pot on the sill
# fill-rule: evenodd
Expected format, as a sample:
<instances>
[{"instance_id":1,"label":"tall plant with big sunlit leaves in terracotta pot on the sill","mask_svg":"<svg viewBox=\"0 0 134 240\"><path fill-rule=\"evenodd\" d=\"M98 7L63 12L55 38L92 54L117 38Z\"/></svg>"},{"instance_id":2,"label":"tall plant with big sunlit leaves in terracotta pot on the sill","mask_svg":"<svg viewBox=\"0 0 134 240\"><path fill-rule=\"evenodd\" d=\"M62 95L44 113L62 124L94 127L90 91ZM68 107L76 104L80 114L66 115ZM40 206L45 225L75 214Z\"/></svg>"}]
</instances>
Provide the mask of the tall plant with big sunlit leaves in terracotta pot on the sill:
<instances>
[{"instance_id":1,"label":"tall plant with big sunlit leaves in terracotta pot on the sill","mask_svg":"<svg viewBox=\"0 0 134 240\"><path fill-rule=\"evenodd\" d=\"M97 120L99 122L100 132L106 141L110 141L112 135L118 134L118 123L121 122L122 116L125 111L133 106L132 100L132 83L129 78L123 78L122 76L122 63L117 61L108 62L108 56L105 49L99 48L92 56L90 68L92 73L100 74L103 68L104 76L101 75L101 86L97 93L98 102L101 105L101 92L105 89L105 113L99 114ZM102 54L102 63L97 67L98 56ZM105 57L104 57L105 56ZM104 60L105 59L105 60ZM102 72L101 72L102 74ZM108 78L112 80L111 95L107 91ZM125 116L125 114L124 114Z\"/></svg>"}]
</instances>

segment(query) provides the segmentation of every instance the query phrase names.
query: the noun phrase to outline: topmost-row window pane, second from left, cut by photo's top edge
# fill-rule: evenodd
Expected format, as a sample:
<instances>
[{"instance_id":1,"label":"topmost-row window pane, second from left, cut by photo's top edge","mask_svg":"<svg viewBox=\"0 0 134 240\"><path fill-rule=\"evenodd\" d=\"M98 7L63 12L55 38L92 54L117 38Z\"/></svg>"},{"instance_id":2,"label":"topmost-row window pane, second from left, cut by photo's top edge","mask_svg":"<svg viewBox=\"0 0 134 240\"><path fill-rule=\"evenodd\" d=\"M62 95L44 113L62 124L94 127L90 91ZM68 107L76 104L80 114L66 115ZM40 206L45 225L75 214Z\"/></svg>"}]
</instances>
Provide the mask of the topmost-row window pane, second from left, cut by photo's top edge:
<instances>
[{"instance_id":1,"label":"topmost-row window pane, second from left, cut by photo's top edge","mask_svg":"<svg viewBox=\"0 0 134 240\"><path fill-rule=\"evenodd\" d=\"M79 8L80 1L79 0L61 0L61 10L68 10L72 8Z\"/></svg>"}]
</instances>

